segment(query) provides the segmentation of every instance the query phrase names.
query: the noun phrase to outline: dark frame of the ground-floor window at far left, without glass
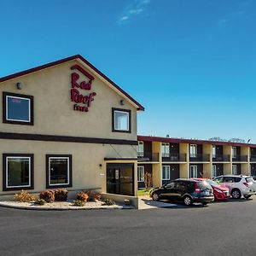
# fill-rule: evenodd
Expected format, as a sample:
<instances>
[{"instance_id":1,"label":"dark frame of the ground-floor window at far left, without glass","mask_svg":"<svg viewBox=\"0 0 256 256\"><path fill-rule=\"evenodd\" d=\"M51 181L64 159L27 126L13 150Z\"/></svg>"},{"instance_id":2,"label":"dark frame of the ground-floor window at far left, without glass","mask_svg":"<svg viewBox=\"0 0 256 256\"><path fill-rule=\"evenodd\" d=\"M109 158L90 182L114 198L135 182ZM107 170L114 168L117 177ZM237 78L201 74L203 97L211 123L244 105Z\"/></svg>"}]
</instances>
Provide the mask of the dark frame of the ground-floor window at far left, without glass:
<instances>
[{"instance_id":1,"label":"dark frame of the ground-floor window at far left, without glass","mask_svg":"<svg viewBox=\"0 0 256 256\"><path fill-rule=\"evenodd\" d=\"M8 186L8 159L29 159L29 185ZM34 189L34 154L3 154L3 191Z\"/></svg>"}]
</instances>

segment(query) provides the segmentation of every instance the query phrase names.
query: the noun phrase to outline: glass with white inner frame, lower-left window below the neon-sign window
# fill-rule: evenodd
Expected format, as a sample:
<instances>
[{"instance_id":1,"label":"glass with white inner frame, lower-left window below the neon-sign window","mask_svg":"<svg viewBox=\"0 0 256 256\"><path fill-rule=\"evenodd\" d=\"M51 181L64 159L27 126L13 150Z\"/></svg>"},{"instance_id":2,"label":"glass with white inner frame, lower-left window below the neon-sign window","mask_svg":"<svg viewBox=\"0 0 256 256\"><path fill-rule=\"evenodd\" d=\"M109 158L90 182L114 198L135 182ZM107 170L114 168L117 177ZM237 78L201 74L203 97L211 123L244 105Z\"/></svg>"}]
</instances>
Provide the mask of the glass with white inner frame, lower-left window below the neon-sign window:
<instances>
[{"instance_id":1,"label":"glass with white inner frame, lower-left window below the neon-sign window","mask_svg":"<svg viewBox=\"0 0 256 256\"><path fill-rule=\"evenodd\" d=\"M30 158L7 157L7 188L30 186Z\"/></svg>"}]
</instances>

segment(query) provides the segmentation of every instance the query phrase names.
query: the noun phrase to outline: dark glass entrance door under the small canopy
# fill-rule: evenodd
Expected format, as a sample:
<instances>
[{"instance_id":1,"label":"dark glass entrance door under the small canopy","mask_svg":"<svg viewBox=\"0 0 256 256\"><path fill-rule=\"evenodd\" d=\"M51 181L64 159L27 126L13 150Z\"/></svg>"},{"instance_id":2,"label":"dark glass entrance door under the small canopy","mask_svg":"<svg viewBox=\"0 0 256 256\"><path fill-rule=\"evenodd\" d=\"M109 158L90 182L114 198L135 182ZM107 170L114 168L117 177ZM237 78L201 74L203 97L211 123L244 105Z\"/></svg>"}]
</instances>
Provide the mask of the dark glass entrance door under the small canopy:
<instances>
[{"instance_id":1,"label":"dark glass entrance door under the small canopy","mask_svg":"<svg viewBox=\"0 0 256 256\"><path fill-rule=\"evenodd\" d=\"M133 164L107 164L107 193L134 195Z\"/></svg>"}]
</instances>

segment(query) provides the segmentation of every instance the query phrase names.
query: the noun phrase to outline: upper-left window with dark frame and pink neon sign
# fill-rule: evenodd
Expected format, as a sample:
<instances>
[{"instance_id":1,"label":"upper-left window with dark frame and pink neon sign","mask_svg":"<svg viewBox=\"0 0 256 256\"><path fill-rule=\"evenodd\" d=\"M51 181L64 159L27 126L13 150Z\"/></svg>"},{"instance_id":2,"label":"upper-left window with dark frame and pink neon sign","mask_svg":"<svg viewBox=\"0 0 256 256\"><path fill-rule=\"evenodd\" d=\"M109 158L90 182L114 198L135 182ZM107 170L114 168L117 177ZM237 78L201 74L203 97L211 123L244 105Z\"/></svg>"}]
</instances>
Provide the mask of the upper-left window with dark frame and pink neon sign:
<instances>
[{"instance_id":1,"label":"upper-left window with dark frame and pink neon sign","mask_svg":"<svg viewBox=\"0 0 256 256\"><path fill-rule=\"evenodd\" d=\"M33 96L3 92L3 123L33 125Z\"/></svg>"}]
</instances>

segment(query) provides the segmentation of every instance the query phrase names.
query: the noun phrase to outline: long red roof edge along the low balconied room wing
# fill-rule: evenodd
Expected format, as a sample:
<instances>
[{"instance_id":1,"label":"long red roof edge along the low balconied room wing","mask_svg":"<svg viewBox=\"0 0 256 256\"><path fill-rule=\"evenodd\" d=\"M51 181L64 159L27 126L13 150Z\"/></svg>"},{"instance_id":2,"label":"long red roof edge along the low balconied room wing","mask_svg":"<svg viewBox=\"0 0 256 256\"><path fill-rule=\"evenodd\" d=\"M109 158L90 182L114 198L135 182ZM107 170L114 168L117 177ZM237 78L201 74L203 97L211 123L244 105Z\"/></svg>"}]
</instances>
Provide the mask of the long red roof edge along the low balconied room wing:
<instances>
[{"instance_id":1,"label":"long red roof edge along the low balconied room wing","mask_svg":"<svg viewBox=\"0 0 256 256\"><path fill-rule=\"evenodd\" d=\"M196 140L196 139L183 139L183 138L173 138L173 137L138 136L137 140L138 141L143 141L143 142L212 144L212 145L219 145L219 146L256 148L256 144L250 144L250 143L229 143L229 142L217 142L217 141Z\"/></svg>"}]
</instances>

